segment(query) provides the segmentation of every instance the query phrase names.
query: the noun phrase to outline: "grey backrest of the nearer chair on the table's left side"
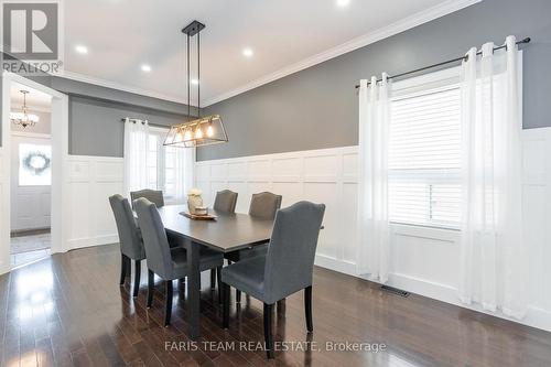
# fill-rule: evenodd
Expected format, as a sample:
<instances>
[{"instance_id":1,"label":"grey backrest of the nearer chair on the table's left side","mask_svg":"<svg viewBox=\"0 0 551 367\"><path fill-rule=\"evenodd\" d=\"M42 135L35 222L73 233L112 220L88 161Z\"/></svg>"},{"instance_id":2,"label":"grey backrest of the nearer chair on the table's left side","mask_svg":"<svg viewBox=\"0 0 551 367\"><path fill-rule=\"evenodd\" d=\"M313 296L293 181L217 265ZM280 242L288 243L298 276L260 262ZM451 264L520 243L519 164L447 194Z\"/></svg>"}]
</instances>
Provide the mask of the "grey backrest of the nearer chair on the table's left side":
<instances>
[{"instance_id":1,"label":"grey backrest of the nearer chair on the table's left side","mask_svg":"<svg viewBox=\"0 0 551 367\"><path fill-rule=\"evenodd\" d=\"M166 231L159 211L154 203L144 197L136 199L133 204L143 237L148 268L161 278L169 280L172 277L173 265Z\"/></svg>"}]
</instances>

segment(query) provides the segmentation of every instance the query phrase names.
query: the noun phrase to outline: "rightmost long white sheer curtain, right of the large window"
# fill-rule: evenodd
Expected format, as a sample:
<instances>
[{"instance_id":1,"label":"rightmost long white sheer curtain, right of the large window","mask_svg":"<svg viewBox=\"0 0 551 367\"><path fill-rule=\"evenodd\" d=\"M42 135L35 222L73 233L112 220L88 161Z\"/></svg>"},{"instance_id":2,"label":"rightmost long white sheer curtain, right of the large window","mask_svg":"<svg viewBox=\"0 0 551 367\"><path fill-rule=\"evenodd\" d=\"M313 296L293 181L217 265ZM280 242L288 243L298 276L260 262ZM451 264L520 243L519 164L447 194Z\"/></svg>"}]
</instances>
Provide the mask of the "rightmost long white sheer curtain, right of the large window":
<instances>
[{"instance_id":1,"label":"rightmost long white sheer curtain, right of the large window","mask_svg":"<svg viewBox=\"0 0 551 367\"><path fill-rule=\"evenodd\" d=\"M519 52L469 50L462 65L463 227L460 298L522 317L528 255L521 216Z\"/></svg>"}]
</instances>

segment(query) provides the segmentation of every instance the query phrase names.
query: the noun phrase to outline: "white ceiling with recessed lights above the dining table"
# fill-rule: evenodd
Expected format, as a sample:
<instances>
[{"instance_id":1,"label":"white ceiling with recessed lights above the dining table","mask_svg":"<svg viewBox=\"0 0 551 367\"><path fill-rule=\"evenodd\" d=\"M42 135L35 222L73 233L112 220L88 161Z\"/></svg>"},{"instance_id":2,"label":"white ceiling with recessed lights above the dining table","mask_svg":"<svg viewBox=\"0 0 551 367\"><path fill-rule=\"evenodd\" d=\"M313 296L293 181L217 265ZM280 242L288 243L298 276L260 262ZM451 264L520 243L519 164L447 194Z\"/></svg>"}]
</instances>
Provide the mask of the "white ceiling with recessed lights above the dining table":
<instances>
[{"instance_id":1,"label":"white ceiling with recessed lights above the dining table","mask_svg":"<svg viewBox=\"0 0 551 367\"><path fill-rule=\"evenodd\" d=\"M205 23L201 40L206 105L477 0L350 0L345 8L337 7L337 0L64 2L68 77L171 100L187 98L185 35L180 30L195 19ZM88 54L76 53L78 44L86 45ZM244 47L255 55L246 58ZM142 72L142 64L152 71Z\"/></svg>"}]
</instances>

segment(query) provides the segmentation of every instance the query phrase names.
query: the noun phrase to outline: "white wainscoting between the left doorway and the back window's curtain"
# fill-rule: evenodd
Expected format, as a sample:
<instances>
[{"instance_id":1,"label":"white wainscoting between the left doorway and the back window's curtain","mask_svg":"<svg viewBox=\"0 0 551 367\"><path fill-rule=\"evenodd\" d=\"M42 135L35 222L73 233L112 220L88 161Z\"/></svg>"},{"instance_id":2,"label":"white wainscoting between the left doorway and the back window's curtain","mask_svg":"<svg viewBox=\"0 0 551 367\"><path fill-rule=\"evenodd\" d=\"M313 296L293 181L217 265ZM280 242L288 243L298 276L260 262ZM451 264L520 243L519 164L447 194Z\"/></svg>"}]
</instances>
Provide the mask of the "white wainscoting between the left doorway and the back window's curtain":
<instances>
[{"instance_id":1,"label":"white wainscoting between the left doorway and the back window's curtain","mask_svg":"<svg viewBox=\"0 0 551 367\"><path fill-rule=\"evenodd\" d=\"M118 242L108 198L122 193L123 160L69 155L67 171L69 249Z\"/></svg>"}]
</instances>

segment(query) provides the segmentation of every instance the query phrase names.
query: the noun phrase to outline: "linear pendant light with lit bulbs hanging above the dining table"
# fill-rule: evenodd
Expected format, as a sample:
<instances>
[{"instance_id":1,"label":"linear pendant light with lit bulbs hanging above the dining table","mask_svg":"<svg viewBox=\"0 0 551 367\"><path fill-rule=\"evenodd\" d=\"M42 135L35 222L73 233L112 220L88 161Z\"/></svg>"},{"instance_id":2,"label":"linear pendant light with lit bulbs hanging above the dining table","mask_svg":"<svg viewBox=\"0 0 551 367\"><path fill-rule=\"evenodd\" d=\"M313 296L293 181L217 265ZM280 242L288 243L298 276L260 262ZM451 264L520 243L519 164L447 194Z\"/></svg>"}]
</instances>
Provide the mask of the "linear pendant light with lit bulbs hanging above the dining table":
<instances>
[{"instance_id":1,"label":"linear pendant light with lit bulbs hanging above the dining table","mask_svg":"<svg viewBox=\"0 0 551 367\"><path fill-rule=\"evenodd\" d=\"M197 36L197 116L191 121L174 125L171 127L164 145L193 148L204 147L228 141L226 129L219 115L201 116L201 36L199 33L205 29L205 24L193 21L182 30L187 36L187 116L191 117L191 85L190 78L190 40Z\"/></svg>"}]
</instances>

